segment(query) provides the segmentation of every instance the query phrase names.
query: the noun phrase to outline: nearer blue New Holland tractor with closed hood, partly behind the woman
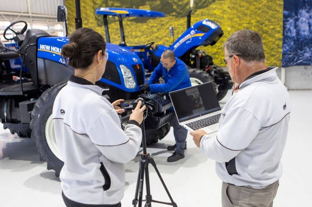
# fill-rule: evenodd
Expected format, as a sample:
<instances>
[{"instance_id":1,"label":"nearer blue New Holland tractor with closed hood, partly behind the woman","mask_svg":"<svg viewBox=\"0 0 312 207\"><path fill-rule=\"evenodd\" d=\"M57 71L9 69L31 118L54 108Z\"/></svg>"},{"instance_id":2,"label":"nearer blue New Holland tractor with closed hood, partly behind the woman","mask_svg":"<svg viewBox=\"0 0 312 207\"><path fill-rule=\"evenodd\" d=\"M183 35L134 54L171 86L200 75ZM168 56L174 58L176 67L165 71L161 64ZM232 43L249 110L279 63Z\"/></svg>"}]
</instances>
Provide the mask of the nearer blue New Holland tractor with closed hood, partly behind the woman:
<instances>
[{"instance_id":1,"label":"nearer blue New Holland tractor with closed hood, partly behind the woman","mask_svg":"<svg viewBox=\"0 0 312 207\"><path fill-rule=\"evenodd\" d=\"M76 2L76 28L79 28L82 21L79 1ZM59 6L58 21L66 22L65 10L64 6ZM158 12L146 13L158 15ZM14 31L12 26L15 24L23 24L22 30ZM12 38L8 38L8 30L13 32ZM55 170L59 176L63 162L56 145L51 113L57 93L74 74L73 68L68 67L60 56L68 37L51 36L38 29L27 30L25 21L7 26L3 36L14 41L5 45L0 41L0 118L3 128L19 137L31 137L36 142L41 161L46 160L47 169ZM121 98L144 98L149 108L145 119L146 141L147 144L158 142L170 130L174 116L171 101L165 94L140 94L140 85L145 83L145 70L136 53L108 41L106 54L105 73L96 82L110 88L103 96L111 102Z\"/></svg>"}]
</instances>

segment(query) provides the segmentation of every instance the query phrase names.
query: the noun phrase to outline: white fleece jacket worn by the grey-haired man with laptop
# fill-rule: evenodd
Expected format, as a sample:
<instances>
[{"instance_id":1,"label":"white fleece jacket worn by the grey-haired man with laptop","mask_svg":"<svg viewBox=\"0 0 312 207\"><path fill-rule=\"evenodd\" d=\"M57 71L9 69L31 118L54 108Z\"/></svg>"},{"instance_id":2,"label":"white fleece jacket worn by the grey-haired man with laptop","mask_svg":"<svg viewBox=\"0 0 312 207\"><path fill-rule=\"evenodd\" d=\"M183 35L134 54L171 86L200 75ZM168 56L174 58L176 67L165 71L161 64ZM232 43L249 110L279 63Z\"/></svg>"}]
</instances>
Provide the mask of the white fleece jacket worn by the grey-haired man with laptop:
<instances>
[{"instance_id":1,"label":"white fleece jacket worn by the grey-haired man with laptop","mask_svg":"<svg viewBox=\"0 0 312 207\"><path fill-rule=\"evenodd\" d=\"M237 186L263 188L280 179L290 119L290 97L276 68L247 78L222 108L216 137L200 148L217 161L217 175Z\"/></svg>"}]
</instances>

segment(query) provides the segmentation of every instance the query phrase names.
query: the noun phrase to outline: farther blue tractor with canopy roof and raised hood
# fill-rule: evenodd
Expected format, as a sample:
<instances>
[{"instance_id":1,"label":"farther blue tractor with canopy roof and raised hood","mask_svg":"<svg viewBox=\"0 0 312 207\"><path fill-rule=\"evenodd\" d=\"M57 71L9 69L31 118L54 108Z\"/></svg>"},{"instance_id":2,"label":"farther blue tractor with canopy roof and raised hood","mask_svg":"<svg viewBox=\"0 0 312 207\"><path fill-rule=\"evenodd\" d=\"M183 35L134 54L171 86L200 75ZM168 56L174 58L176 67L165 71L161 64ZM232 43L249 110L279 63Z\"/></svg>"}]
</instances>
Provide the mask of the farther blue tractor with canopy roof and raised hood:
<instances>
[{"instance_id":1,"label":"farther blue tractor with canopy roof and raised hood","mask_svg":"<svg viewBox=\"0 0 312 207\"><path fill-rule=\"evenodd\" d=\"M189 10L187 16L187 30L171 46L154 46L154 42L139 46L128 46L124 35L124 17L165 17L165 14L129 8L98 8L95 11L96 14L103 15L106 41L108 42L110 42L110 33L107 17L118 17L121 35L119 46L135 52L140 57L145 68L146 79L149 79L154 68L159 64L163 51L170 49L188 66L192 85L211 81L218 100L221 100L227 94L227 90L232 88L232 79L227 71L213 64L210 55L196 48L199 46L213 46L223 35L223 31L217 23L209 19L201 20L191 26L191 12L192 9ZM170 27L170 34L174 36L173 27Z\"/></svg>"}]
</instances>

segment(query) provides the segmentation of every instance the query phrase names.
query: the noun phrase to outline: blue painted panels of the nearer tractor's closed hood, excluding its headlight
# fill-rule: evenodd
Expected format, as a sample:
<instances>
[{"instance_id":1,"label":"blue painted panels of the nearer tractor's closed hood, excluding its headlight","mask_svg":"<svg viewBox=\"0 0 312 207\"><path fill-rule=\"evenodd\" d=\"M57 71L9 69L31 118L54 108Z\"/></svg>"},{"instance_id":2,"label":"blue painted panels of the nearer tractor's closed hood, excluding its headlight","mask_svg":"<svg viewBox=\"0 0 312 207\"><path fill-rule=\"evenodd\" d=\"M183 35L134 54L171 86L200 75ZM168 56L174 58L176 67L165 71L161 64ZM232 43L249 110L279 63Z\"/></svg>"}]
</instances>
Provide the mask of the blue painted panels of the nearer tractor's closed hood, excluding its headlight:
<instances>
[{"instance_id":1,"label":"blue painted panels of the nearer tractor's closed hood, excluding its headlight","mask_svg":"<svg viewBox=\"0 0 312 207\"><path fill-rule=\"evenodd\" d=\"M37 47L37 57L43 58L47 60L52 60L54 62L66 65L65 61L61 58L61 49L64 44L68 43L68 37L41 37L38 39L38 47ZM141 59L132 51L127 50L118 45L106 43L106 53L108 57L108 61L111 61L115 64L118 69L120 81L111 81L109 79L101 78L100 81L126 92L137 92L140 89L139 81L137 77L137 71L134 65L141 65L140 69L144 70L143 63ZM126 88L123 80L123 75L120 69L120 65L125 65L132 73L136 81L136 88L129 89ZM108 69L107 69L108 70ZM137 69L138 70L138 69ZM145 79L143 73L143 79ZM116 83L118 82L118 83ZM121 84L119 84L121 83Z\"/></svg>"}]
</instances>

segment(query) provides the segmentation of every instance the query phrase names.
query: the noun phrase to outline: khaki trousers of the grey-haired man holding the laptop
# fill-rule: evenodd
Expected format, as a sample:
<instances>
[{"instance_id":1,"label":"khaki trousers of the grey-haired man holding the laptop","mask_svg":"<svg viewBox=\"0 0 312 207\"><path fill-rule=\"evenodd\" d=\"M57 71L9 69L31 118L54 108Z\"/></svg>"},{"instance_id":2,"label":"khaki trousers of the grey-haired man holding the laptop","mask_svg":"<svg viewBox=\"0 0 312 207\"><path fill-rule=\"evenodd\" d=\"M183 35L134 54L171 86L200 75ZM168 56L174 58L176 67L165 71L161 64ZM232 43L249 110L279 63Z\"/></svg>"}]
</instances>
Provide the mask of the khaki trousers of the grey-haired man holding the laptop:
<instances>
[{"instance_id":1,"label":"khaki trousers of the grey-haired man holding the laptop","mask_svg":"<svg viewBox=\"0 0 312 207\"><path fill-rule=\"evenodd\" d=\"M222 207L272 207L279 181L263 189L222 183Z\"/></svg>"}]
</instances>

